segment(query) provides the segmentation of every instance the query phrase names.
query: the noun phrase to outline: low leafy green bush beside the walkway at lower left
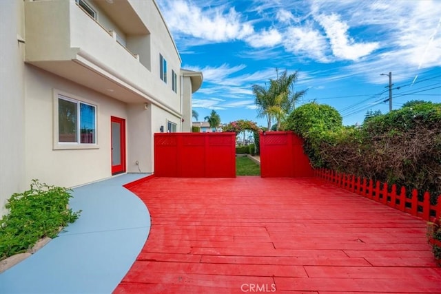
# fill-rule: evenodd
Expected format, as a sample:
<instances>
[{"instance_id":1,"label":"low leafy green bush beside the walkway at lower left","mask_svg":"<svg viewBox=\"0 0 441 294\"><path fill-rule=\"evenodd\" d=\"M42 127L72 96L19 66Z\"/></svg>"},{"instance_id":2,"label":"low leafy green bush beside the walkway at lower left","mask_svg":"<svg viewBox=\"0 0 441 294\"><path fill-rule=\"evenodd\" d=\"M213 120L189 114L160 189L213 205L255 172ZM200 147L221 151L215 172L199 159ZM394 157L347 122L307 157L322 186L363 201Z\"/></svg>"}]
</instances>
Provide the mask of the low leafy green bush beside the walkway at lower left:
<instances>
[{"instance_id":1,"label":"low leafy green bush beside the walkway at lower left","mask_svg":"<svg viewBox=\"0 0 441 294\"><path fill-rule=\"evenodd\" d=\"M0 260L30 249L39 239L54 238L81 211L68 209L70 190L32 180L30 190L14 193L6 203L10 213L0 220Z\"/></svg>"}]
</instances>

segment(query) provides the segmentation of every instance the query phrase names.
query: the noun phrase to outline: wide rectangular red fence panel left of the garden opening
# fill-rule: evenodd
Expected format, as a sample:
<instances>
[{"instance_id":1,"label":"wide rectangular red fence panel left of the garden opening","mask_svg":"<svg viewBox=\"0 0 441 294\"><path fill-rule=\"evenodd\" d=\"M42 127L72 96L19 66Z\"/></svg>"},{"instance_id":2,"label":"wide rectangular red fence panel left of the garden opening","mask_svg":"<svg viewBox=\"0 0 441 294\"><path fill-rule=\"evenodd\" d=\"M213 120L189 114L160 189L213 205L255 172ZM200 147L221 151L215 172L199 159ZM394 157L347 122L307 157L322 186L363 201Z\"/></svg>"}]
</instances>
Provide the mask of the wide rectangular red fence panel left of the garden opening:
<instances>
[{"instance_id":1,"label":"wide rectangular red fence panel left of the garden opening","mask_svg":"<svg viewBox=\"0 0 441 294\"><path fill-rule=\"evenodd\" d=\"M176 178L236 177L235 133L154 134L154 174Z\"/></svg>"}]
</instances>

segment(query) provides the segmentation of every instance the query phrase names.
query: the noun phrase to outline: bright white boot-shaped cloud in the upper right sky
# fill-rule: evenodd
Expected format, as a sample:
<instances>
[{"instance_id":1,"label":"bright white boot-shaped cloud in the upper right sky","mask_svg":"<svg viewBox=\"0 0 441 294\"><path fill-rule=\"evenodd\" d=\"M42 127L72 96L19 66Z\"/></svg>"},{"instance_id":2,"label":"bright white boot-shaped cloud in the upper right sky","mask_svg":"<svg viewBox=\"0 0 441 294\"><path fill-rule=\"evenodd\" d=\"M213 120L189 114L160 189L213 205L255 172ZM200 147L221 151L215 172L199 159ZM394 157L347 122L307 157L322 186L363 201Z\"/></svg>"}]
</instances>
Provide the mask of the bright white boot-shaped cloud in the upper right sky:
<instances>
[{"instance_id":1,"label":"bright white boot-shaped cloud in the upper right sky","mask_svg":"<svg viewBox=\"0 0 441 294\"><path fill-rule=\"evenodd\" d=\"M337 14L320 14L316 16L316 20L324 28L331 50L338 59L356 61L379 48L376 42L356 43L348 36L349 26L340 21Z\"/></svg>"}]
</instances>

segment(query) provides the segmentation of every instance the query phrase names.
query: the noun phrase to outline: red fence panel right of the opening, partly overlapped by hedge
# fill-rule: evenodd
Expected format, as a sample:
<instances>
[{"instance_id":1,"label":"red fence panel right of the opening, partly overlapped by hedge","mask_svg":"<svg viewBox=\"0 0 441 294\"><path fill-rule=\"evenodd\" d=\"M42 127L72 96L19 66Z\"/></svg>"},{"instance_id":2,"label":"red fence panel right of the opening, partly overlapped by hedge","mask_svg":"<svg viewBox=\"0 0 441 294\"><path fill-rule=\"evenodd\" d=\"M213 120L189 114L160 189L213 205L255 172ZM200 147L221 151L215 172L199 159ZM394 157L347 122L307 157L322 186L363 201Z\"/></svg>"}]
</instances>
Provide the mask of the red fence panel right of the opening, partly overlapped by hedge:
<instances>
[{"instance_id":1,"label":"red fence panel right of the opening, partly overlapped by hedge","mask_svg":"<svg viewBox=\"0 0 441 294\"><path fill-rule=\"evenodd\" d=\"M263 178L314 176L303 140L293 132L260 133L260 175Z\"/></svg>"}]
</instances>

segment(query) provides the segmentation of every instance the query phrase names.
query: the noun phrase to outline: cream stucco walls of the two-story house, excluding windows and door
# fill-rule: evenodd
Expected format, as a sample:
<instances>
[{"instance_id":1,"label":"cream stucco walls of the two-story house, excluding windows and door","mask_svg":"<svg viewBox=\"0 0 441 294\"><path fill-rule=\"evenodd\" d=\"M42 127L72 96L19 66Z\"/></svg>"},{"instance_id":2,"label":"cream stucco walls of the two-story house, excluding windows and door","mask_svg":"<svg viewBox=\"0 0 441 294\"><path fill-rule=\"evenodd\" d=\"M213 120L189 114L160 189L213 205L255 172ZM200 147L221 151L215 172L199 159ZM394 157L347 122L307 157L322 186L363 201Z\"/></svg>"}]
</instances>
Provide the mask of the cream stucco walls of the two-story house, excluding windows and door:
<instances>
[{"instance_id":1,"label":"cream stucco walls of the two-story house, excluding windows and door","mask_svg":"<svg viewBox=\"0 0 441 294\"><path fill-rule=\"evenodd\" d=\"M126 120L129 172L153 172L153 136L161 126L167 132L167 121L176 124L177 132L189 129L191 107L181 105L181 98L191 103L191 85L185 78L187 85L181 97L181 57L161 12L154 1L127 1L150 34L127 34L121 19L117 25L95 9L101 25L114 28L127 41L127 48L140 54L141 64L73 0L0 1L0 216L6 213L7 198L23 191L34 178L74 187L110 177L110 116ZM159 78L159 54L167 61L167 83ZM177 93L172 90L172 70L177 75ZM78 76L84 78L75 78ZM108 89L96 86L101 84L93 83L94 78L139 93L139 100L125 100L139 103L115 99L123 95L107 96ZM54 89L97 106L96 148L54 149ZM181 111L184 123L179 117Z\"/></svg>"}]
</instances>

